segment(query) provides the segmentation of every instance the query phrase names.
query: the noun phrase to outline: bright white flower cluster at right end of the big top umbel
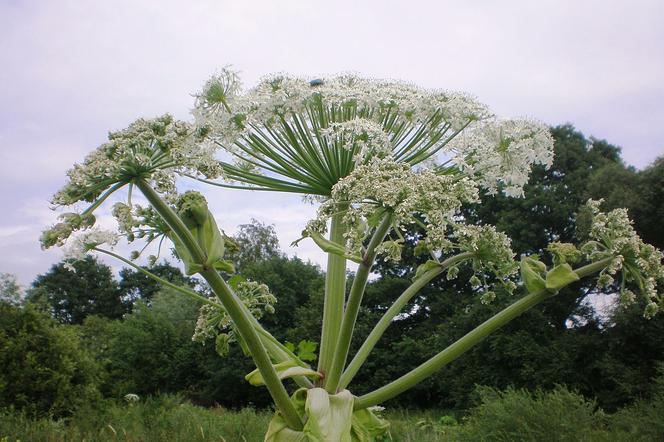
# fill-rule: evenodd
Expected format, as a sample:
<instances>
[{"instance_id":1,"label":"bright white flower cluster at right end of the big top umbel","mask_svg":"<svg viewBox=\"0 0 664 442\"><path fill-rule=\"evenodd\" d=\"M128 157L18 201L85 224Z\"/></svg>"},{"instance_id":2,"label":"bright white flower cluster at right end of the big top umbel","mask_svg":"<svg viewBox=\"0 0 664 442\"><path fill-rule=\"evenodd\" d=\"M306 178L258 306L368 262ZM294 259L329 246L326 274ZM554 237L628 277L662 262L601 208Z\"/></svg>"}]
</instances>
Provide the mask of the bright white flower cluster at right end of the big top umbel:
<instances>
[{"instance_id":1,"label":"bright white flower cluster at right end of the big top umbel","mask_svg":"<svg viewBox=\"0 0 664 442\"><path fill-rule=\"evenodd\" d=\"M553 137L547 127L531 120L495 120L477 125L451 143L456 163L496 193L523 196L533 164L553 164Z\"/></svg>"}]
</instances>

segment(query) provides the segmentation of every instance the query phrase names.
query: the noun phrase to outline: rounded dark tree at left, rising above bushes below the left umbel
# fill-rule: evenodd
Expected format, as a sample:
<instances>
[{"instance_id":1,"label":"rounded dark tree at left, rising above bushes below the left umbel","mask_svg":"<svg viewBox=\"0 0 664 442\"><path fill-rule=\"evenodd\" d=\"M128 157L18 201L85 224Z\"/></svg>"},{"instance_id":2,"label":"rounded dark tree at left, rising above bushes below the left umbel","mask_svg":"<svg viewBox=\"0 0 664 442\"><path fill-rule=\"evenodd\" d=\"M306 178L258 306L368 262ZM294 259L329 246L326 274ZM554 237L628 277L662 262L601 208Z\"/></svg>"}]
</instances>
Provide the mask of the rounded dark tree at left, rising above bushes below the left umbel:
<instances>
[{"instance_id":1,"label":"rounded dark tree at left, rising above bushes below the left umbel","mask_svg":"<svg viewBox=\"0 0 664 442\"><path fill-rule=\"evenodd\" d=\"M81 324L89 315L121 318L129 308L110 267L93 257L54 264L34 280L28 299L45 303L66 324Z\"/></svg>"}]
</instances>

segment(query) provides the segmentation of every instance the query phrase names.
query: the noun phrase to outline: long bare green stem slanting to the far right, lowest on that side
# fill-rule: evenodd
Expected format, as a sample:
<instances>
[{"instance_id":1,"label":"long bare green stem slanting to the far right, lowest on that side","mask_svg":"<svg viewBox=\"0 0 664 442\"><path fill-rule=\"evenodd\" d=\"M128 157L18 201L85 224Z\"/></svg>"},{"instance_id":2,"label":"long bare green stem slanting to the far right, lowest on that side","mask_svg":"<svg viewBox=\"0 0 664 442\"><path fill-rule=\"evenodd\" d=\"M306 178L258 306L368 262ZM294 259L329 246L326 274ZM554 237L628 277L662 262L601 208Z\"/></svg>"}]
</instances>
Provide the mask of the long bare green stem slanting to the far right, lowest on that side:
<instances>
[{"instance_id":1,"label":"long bare green stem slanting to the far right, lowest on that side","mask_svg":"<svg viewBox=\"0 0 664 442\"><path fill-rule=\"evenodd\" d=\"M606 258L601 261L589 264L575 270L579 278L591 275L604 269L611 263L613 258ZM498 330L503 325L507 324L517 316L536 306L540 302L552 297L555 292L548 290L539 290L519 299L506 309L497 313L483 324L467 333L454 344L447 347L445 350L438 353L433 358L429 359L419 367L411 370L400 378L390 382L389 384L360 396L355 400L355 409L363 409L373 405L384 402L388 399L397 396L398 394L408 390L409 388L422 382L427 377L434 374L436 371L449 364L475 345L479 344L488 335Z\"/></svg>"}]
</instances>

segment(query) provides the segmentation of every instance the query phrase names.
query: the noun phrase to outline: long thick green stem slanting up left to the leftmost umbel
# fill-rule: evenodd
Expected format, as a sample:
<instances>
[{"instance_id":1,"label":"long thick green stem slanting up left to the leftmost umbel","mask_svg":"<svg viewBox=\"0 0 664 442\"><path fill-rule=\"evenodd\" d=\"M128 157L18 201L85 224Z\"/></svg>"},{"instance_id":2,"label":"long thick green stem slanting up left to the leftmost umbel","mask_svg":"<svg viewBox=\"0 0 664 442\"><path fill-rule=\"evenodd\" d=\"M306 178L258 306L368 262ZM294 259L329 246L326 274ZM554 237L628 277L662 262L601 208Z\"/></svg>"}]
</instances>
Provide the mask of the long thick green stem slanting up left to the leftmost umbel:
<instances>
[{"instance_id":1,"label":"long thick green stem slanting up left to the leftmost umbel","mask_svg":"<svg viewBox=\"0 0 664 442\"><path fill-rule=\"evenodd\" d=\"M173 233L182 241L194 261L204 265L207 261L205 252L198 245L180 217L145 181L137 180L136 186L143 192L143 195L145 195L145 198L152 204L157 213L166 221ZM235 327L247 344L251 357L263 376L265 386L270 392L277 409L284 417L284 420L289 427L296 430L301 429L302 420L288 397L286 388L284 388L284 385L277 376L277 372L270 361L265 347L261 343L260 337L254 328L251 313L247 311L246 306L235 296L228 284L219 276L219 273L215 269L207 268L200 272L200 274L210 284L210 287L219 298L219 301L224 309L226 309L226 312L233 320Z\"/></svg>"}]
</instances>

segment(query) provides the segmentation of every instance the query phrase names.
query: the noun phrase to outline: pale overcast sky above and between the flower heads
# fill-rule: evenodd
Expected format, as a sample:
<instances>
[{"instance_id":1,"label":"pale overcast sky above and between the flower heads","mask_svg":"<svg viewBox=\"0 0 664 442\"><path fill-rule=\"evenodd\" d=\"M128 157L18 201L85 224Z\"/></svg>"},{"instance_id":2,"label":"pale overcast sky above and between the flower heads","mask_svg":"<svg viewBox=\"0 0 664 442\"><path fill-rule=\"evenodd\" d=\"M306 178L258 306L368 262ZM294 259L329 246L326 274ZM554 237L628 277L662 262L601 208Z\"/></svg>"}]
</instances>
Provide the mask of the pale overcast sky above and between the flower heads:
<instances>
[{"instance_id":1,"label":"pale overcast sky above and between the flower heads","mask_svg":"<svg viewBox=\"0 0 664 442\"><path fill-rule=\"evenodd\" d=\"M0 272L24 285L65 171L138 117L188 119L191 94L232 64L356 72L467 91L501 116L573 123L647 166L664 154L664 1L0 0ZM228 232L252 217L289 248L314 208L211 189ZM107 261L109 264L117 265Z\"/></svg>"}]
</instances>

